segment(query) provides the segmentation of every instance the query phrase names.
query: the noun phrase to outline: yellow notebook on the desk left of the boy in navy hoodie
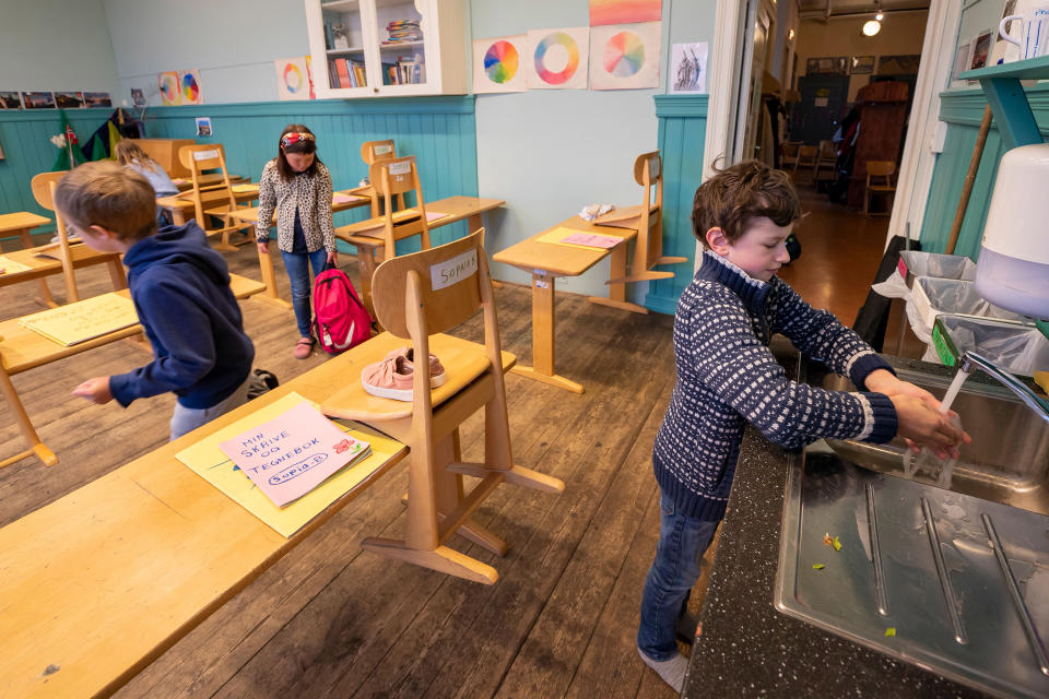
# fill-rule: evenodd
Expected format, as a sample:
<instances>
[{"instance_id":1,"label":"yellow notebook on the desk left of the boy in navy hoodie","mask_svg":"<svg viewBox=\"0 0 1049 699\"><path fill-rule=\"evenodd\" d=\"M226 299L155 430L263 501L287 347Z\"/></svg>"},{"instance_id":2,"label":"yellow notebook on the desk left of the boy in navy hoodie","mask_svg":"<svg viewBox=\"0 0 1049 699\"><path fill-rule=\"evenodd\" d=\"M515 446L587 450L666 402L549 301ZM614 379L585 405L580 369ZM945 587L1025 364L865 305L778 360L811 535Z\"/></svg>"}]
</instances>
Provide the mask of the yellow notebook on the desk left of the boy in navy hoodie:
<instances>
[{"instance_id":1,"label":"yellow notebook on the desk left of the boy in navy hoodie","mask_svg":"<svg viewBox=\"0 0 1049 699\"><path fill-rule=\"evenodd\" d=\"M70 346L139 322L130 298L114 292L19 319L19 324Z\"/></svg>"}]
</instances>

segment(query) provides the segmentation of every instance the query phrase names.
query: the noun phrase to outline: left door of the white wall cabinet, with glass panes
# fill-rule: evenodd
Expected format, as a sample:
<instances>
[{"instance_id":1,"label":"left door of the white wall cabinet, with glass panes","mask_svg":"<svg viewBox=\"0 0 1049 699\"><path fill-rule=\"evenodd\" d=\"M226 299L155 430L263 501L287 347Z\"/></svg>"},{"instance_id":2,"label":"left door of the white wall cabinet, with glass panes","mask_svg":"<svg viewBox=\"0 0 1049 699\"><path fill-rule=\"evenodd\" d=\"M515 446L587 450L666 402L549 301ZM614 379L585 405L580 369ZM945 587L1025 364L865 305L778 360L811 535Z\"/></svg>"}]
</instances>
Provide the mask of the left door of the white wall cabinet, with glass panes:
<instances>
[{"instance_id":1,"label":"left door of the white wall cabinet, with glass panes","mask_svg":"<svg viewBox=\"0 0 1049 699\"><path fill-rule=\"evenodd\" d=\"M374 94L375 5L373 0L305 0L317 96Z\"/></svg>"}]
</instances>

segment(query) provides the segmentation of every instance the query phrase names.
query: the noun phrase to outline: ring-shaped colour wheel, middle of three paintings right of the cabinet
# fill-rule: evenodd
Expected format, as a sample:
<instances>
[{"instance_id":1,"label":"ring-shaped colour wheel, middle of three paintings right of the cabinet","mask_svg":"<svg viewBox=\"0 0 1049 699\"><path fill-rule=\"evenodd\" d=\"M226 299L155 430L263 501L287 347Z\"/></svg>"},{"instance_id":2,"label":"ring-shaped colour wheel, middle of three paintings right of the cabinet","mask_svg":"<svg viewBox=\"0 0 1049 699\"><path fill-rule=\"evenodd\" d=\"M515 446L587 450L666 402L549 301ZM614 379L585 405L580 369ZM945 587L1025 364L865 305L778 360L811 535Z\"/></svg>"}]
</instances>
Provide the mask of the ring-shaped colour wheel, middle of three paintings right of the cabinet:
<instances>
[{"instance_id":1,"label":"ring-shaped colour wheel, middle of three paintings right of the cabinet","mask_svg":"<svg viewBox=\"0 0 1049 699\"><path fill-rule=\"evenodd\" d=\"M530 90L586 90L590 27L532 29L524 81Z\"/></svg>"}]
</instances>

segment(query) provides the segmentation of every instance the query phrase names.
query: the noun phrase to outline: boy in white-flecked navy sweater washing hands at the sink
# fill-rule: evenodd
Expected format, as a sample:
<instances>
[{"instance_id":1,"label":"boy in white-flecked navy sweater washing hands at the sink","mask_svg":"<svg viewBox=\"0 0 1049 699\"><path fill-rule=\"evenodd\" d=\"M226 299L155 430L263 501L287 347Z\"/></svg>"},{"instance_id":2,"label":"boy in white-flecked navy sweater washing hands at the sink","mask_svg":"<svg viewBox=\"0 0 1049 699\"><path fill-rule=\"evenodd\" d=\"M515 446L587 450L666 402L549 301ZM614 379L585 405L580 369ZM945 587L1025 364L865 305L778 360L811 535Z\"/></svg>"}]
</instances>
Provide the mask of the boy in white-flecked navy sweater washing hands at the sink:
<instances>
[{"instance_id":1,"label":"boy in white-flecked navy sweater washing hands at the sink","mask_svg":"<svg viewBox=\"0 0 1049 699\"><path fill-rule=\"evenodd\" d=\"M660 540L637 632L641 660L677 691L687 661L675 626L724 517L747 423L788 449L821 437L886 442L899 435L911 448L946 455L970 441L932 394L897 379L859 335L776 276L790 261L786 240L800 217L790 177L757 161L733 165L696 191L693 229L705 250L674 313L677 381L652 450ZM774 333L860 390L789 380L768 350Z\"/></svg>"}]
</instances>

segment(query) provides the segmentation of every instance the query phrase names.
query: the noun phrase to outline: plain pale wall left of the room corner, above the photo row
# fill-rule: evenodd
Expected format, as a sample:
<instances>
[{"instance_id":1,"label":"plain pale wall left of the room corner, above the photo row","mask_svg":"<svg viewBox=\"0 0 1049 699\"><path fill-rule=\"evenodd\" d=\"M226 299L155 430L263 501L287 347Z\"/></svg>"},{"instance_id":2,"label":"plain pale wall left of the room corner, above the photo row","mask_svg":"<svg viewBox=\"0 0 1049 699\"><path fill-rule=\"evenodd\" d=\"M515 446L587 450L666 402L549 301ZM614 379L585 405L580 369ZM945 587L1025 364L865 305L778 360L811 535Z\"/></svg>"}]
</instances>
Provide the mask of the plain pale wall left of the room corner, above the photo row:
<instances>
[{"instance_id":1,"label":"plain pale wall left of the room corner, above the photo row","mask_svg":"<svg viewBox=\"0 0 1049 699\"><path fill-rule=\"evenodd\" d=\"M0 91L113 94L116 68L102 0L0 3Z\"/></svg>"}]
</instances>

